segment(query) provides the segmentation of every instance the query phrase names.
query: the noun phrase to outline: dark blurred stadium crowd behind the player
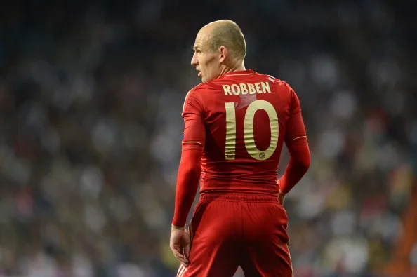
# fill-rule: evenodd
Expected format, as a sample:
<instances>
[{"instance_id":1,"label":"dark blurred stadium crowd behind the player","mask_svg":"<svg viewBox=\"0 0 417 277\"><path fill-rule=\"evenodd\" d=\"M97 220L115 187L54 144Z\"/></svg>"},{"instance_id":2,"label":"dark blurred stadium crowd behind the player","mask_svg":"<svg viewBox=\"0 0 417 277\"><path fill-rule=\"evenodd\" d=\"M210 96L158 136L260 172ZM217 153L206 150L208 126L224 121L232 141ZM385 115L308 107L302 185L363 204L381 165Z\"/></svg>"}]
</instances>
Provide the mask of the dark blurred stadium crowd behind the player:
<instances>
[{"instance_id":1,"label":"dark blurred stadium crowd behind the player","mask_svg":"<svg viewBox=\"0 0 417 277\"><path fill-rule=\"evenodd\" d=\"M246 36L246 68L300 97L312 165L286 200L296 276L417 276L411 2L3 4L0 276L175 276L192 45L222 18Z\"/></svg>"}]
</instances>

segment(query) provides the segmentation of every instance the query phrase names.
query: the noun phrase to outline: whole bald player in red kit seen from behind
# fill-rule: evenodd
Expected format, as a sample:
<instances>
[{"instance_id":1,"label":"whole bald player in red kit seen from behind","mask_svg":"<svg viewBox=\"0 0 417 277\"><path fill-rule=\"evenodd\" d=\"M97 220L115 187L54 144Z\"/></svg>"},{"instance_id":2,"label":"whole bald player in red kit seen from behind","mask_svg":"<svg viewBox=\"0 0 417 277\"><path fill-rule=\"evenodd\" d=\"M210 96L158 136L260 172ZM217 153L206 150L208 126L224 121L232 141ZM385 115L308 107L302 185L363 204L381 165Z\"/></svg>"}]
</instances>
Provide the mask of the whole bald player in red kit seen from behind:
<instances>
[{"instance_id":1,"label":"whole bald player in red kit seen from behind","mask_svg":"<svg viewBox=\"0 0 417 277\"><path fill-rule=\"evenodd\" d=\"M245 69L246 43L230 20L200 29L191 64L202 83L185 123L170 247L177 276L293 275L284 196L310 166L300 102L284 81ZM277 181L285 142L291 159ZM199 180L200 199L185 230Z\"/></svg>"}]
</instances>

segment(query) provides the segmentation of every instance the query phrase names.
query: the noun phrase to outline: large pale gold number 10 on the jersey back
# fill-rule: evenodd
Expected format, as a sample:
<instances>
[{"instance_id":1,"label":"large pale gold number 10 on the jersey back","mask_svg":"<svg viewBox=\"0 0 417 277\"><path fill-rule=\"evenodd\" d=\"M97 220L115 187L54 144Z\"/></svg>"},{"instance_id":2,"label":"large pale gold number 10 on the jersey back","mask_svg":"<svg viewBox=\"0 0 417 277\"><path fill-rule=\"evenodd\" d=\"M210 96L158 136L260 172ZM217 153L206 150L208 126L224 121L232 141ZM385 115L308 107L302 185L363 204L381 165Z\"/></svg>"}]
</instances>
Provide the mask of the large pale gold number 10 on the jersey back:
<instances>
[{"instance_id":1,"label":"large pale gold number 10 on the jersey back","mask_svg":"<svg viewBox=\"0 0 417 277\"><path fill-rule=\"evenodd\" d=\"M234 160L236 151L236 111L234 109L234 102L225 103L226 108L226 149L225 159ZM270 146L265 151L260 151L255 144L255 137L253 135L253 119L258 109L263 109L269 118L271 129ZM244 117L244 142L246 151L256 160L262 161L270 158L277 149L278 144L278 115L275 112L274 106L265 100L256 100L249 104L246 109Z\"/></svg>"}]
</instances>

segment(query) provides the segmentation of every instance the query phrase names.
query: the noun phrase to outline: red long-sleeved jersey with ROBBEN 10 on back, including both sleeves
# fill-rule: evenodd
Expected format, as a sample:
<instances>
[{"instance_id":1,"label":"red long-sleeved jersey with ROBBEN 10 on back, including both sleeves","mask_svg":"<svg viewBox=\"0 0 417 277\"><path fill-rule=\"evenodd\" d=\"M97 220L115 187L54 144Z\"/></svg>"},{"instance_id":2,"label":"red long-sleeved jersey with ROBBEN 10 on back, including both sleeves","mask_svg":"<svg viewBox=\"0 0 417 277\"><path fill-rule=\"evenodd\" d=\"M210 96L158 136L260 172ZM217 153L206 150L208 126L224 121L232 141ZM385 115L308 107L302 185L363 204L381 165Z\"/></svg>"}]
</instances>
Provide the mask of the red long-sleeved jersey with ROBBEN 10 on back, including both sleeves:
<instances>
[{"instance_id":1,"label":"red long-sleeved jersey with ROBBEN 10 on back, including both sleeves","mask_svg":"<svg viewBox=\"0 0 417 277\"><path fill-rule=\"evenodd\" d=\"M251 106L252 119L248 107L253 102L260 107ZM310 163L298 97L288 84L271 76L246 70L201 83L187 93L183 119L183 152L173 219L178 227L185 224L199 177L201 194L216 191L277 196L277 168L284 142L291 162L281 189L289 191L304 175L307 160ZM277 147L269 158L264 158L272 140L271 128L277 127ZM226 146L231 149L228 156Z\"/></svg>"}]
</instances>

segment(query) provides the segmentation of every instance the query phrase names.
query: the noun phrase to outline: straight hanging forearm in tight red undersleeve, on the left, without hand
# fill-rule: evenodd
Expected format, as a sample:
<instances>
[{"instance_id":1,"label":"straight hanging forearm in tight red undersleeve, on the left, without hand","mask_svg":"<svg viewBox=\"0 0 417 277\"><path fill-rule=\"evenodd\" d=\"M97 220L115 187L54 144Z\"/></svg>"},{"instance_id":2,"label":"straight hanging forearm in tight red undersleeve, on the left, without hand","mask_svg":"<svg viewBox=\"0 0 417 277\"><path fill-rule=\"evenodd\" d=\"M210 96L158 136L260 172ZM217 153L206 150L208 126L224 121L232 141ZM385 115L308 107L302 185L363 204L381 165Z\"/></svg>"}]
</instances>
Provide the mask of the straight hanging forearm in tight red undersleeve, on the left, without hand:
<instances>
[{"instance_id":1,"label":"straight hanging forearm in tight red undersleeve, on the left, without hand","mask_svg":"<svg viewBox=\"0 0 417 277\"><path fill-rule=\"evenodd\" d=\"M172 224L184 227L194 201L201 173L201 150L183 151L178 169L176 204Z\"/></svg>"}]
</instances>

